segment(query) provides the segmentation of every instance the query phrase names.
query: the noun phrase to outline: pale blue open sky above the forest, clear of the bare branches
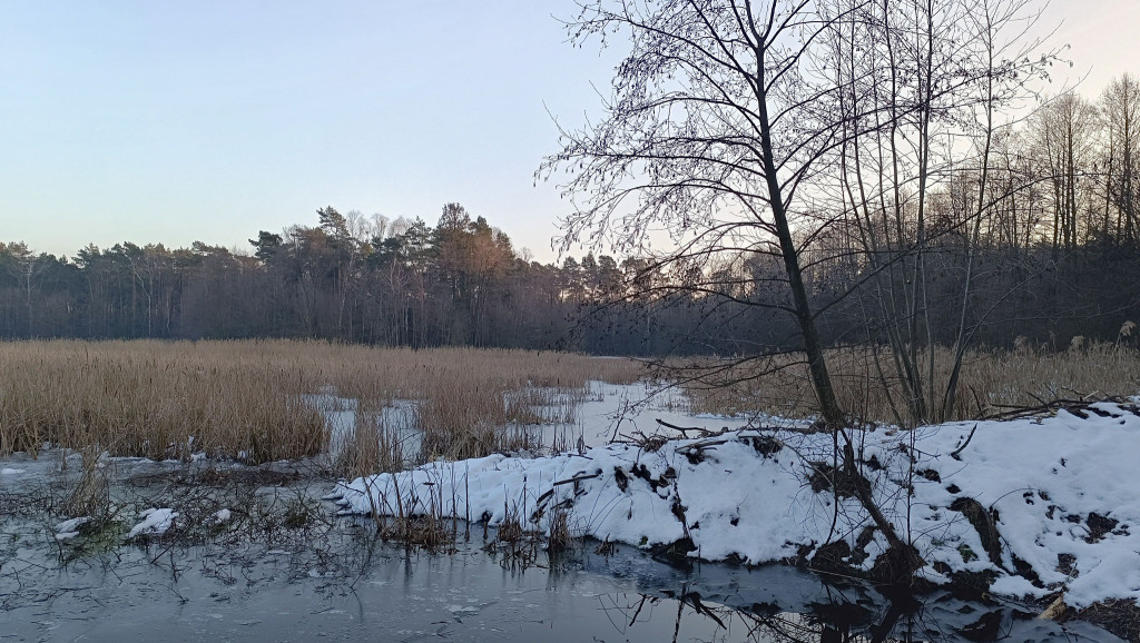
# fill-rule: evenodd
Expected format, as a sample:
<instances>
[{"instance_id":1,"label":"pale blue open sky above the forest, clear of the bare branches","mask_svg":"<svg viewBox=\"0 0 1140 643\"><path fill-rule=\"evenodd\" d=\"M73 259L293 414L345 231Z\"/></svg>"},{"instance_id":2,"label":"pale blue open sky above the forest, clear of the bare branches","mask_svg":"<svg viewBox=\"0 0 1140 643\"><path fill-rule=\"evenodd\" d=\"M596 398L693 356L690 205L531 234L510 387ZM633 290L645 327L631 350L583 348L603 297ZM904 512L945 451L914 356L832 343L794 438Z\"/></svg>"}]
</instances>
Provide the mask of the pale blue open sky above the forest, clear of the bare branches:
<instances>
[{"instance_id":1,"label":"pale blue open sky above the forest, clear of the bare branches","mask_svg":"<svg viewBox=\"0 0 1140 643\"><path fill-rule=\"evenodd\" d=\"M249 250L326 205L439 219L535 259L570 204L535 170L598 112L614 50L570 0L0 0L0 241ZM1140 72L1140 0L1053 0L1053 86ZM1130 67L1130 65L1132 65Z\"/></svg>"}]
</instances>

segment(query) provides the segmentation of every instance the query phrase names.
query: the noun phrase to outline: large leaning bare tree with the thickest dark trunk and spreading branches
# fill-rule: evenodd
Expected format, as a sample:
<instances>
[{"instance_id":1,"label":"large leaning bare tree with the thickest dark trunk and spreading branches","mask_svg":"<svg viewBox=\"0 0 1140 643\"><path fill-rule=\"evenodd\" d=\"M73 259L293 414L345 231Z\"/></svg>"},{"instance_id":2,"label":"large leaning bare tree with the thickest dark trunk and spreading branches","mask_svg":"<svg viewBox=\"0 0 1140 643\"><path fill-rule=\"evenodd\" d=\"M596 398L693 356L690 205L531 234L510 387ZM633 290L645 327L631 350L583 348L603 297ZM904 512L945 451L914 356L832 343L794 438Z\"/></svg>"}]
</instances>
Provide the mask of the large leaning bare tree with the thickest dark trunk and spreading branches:
<instances>
[{"instance_id":1,"label":"large leaning bare tree with the thickest dark trunk and spreading branches","mask_svg":"<svg viewBox=\"0 0 1140 643\"><path fill-rule=\"evenodd\" d=\"M807 0L601 0L569 24L576 42L629 35L605 117L563 130L539 172L565 170L577 210L563 243L650 254L649 233L673 247L658 264L723 252L777 257L822 417L845 418L805 284L797 234L820 218L800 198L839 144L838 89L813 51L834 14ZM807 234L801 238L811 239Z\"/></svg>"}]
</instances>

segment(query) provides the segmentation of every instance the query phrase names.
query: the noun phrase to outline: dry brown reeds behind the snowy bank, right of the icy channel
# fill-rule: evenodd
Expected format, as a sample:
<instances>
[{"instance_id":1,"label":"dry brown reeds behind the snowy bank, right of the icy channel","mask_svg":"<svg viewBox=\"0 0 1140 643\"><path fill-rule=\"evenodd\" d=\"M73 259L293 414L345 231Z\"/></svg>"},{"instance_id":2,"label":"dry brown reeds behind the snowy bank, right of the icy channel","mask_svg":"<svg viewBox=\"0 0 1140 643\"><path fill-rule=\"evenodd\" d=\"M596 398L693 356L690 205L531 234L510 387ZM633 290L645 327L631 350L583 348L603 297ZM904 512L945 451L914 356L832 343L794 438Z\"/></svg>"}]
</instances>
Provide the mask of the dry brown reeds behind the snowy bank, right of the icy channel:
<instances>
[{"instance_id":1,"label":"dry brown reeds behind the snowy bank, right of the icy channel","mask_svg":"<svg viewBox=\"0 0 1140 643\"><path fill-rule=\"evenodd\" d=\"M836 349L826 353L832 385L845 409L877 423L906 424L902 382L887 350ZM953 355L936 349L934 379L942 400ZM694 413L766 413L805 417L816 413L807 365L791 356L755 359L736 367L698 361L677 368ZM922 360L922 373L929 364ZM1057 399L1129 397L1140 393L1140 351L1123 343L1074 344L1048 351L1021 345L1012 351L974 350L962 361L960 388L946 421L974 420L1008 407L1034 407Z\"/></svg>"}]
</instances>

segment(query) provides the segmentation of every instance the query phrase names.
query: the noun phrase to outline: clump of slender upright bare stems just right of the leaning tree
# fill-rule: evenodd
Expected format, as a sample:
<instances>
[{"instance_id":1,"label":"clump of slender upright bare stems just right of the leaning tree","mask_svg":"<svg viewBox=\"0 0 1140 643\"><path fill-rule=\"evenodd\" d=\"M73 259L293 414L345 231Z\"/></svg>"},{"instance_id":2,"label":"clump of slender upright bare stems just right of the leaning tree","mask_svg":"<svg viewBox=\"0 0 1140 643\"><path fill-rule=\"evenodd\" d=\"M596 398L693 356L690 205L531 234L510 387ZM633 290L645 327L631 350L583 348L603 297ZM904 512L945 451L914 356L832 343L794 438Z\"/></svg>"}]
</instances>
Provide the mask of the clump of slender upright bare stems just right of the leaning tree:
<instances>
[{"instance_id":1,"label":"clump of slender upright bare stems just right of the leaning tree","mask_svg":"<svg viewBox=\"0 0 1140 643\"><path fill-rule=\"evenodd\" d=\"M1000 109L1025 92L1024 81L1043 64L1027 55L1035 42L1019 41L1035 15L1031 0L847 5L850 19L838 23L829 42L847 128L832 203L865 261L879 379L887 386L887 361L889 380L902 384L896 418L938 421L955 405L972 336L976 255L997 198L994 144L1010 128L999 122ZM958 323L946 342L953 344L948 375L940 381L936 260L937 271L960 270L962 284L951 308ZM882 359L880 341L889 348Z\"/></svg>"}]
</instances>

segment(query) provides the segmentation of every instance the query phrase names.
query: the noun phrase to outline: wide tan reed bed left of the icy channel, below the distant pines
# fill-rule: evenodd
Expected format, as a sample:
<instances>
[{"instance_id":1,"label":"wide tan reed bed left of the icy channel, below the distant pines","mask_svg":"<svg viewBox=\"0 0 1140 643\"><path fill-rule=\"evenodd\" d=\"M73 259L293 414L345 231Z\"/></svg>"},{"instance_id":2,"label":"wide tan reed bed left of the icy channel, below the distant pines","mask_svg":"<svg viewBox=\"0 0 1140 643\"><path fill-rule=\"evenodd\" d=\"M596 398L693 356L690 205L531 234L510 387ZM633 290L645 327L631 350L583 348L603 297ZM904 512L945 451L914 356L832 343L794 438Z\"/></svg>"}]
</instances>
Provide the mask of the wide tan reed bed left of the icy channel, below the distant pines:
<instances>
[{"instance_id":1,"label":"wide tan reed bed left of the icy channel, below the distant pines","mask_svg":"<svg viewBox=\"0 0 1140 643\"><path fill-rule=\"evenodd\" d=\"M508 445L505 424L535 421L536 413L542 421L529 404L542 401L540 391L555 399L559 391L584 391L589 380L630 383L641 375L628 360L535 351L298 341L2 342L0 455L34 454L52 443L152 458L309 456L327 447L328 434L304 396L331 393L357 400L361 425L373 429L376 422L367 418L393 400L422 400L416 423L435 434L425 440L431 455L459 457ZM376 431L376 439L385 434L391 437ZM391 467L385 450L392 442L369 451L370 440L352 437L361 450L353 469Z\"/></svg>"}]
</instances>

